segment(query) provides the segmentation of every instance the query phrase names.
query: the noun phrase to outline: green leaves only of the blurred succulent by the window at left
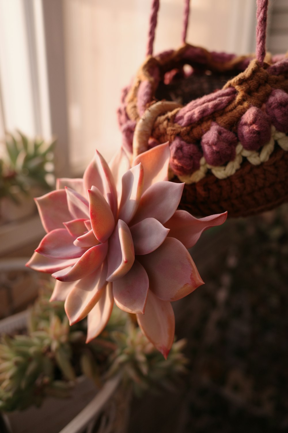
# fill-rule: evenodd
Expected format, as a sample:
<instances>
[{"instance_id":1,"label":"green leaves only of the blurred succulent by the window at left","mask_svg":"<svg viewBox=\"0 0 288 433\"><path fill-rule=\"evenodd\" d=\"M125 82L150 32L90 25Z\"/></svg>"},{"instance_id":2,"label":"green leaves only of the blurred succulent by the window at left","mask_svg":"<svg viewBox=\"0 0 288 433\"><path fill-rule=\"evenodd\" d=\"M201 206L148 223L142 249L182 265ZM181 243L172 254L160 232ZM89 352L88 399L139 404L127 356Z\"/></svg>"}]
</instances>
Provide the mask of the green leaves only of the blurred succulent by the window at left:
<instances>
[{"instance_id":1,"label":"green leaves only of the blurred succulent by the window at left","mask_svg":"<svg viewBox=\"0 0 288 433\"><path fill-rule=\"evenodd\" d=\"M32 186L51 189L54 145L55 141L30 140L22 132L7 134L5 155L0 159L0 197L17 203L16 192L27 195Z\"/></svg>"}]
</instances>

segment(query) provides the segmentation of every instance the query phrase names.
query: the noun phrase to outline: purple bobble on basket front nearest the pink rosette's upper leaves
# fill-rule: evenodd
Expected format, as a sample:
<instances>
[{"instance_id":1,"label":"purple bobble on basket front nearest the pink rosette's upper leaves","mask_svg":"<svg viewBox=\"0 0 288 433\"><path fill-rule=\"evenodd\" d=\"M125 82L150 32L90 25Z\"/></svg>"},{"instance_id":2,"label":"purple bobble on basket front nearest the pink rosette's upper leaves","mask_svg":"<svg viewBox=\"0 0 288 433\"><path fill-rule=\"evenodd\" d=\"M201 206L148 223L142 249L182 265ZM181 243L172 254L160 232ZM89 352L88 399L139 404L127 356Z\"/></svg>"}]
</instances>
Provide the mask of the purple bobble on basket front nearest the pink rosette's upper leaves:
<instances>
[{"instance_id":1,"label":"purple bobble on basket front nearest the pink rosette's upper leaves","mask_svg":"<svg viewBox=\"0 0 288 433\"><path fill-rule=\"evenodd\" d=\"M202 153L196 144L188 144L180 137L176 137L170 150L170 166L176 174L190 174L199 169Z\"/></svg>"}]
</instances>

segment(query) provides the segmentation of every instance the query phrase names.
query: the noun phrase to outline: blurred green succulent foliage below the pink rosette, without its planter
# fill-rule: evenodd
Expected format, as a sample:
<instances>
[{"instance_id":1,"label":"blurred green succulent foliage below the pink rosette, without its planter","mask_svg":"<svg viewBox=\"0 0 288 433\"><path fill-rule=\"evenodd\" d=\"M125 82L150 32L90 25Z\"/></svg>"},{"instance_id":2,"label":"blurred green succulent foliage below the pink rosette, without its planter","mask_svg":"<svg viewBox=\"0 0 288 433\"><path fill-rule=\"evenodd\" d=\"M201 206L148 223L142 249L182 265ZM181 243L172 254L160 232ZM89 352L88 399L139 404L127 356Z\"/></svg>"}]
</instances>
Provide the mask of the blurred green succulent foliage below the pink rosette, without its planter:
<instances>
[{"instance_id":1,"label":"blurred green succulent foliage below the pink rosette, without its planter","mask_svg":"<svg viewBox=\"0 0 288 433\"><path fill-rule=\"evenodd\" d=\"M183 340L174 343L165 361L133 318L115 308L101 335L86 344L86 320L69 326L63 302L49 302L51 293L51 284L43 283L25 335L2 336L0 410L40 406L48 395L67 397L83 374L101 387L121 372L139 394L153 386L170 388L185 372Z\"/></svg>"}]
</instances>

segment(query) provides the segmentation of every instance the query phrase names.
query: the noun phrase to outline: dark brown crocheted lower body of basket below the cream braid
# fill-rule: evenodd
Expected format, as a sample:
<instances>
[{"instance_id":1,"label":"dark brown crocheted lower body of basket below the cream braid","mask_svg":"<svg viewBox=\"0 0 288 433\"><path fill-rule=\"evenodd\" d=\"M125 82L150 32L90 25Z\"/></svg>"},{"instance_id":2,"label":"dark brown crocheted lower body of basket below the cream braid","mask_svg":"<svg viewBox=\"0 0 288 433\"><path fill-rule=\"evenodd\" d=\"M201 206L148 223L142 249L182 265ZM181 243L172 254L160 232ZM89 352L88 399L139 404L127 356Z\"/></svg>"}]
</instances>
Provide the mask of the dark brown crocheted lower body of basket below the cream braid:
<instances>
[{"instance_id":1,"label":"dark brown crocheted lower body of basket below the cream braid","mask_svg":"<svg viewBox=\"0 0 288 433\"><path fill-rule=\"evenodd\" d=\"M288 200L288 152L281 148L267 162L251 165L227 179L208 174L201 181L184 186L180 209L196 216L228 210L228 215L249 216L272 209ZM180 182L178 178L173 181Z\"/></svg>"}]
</instances>

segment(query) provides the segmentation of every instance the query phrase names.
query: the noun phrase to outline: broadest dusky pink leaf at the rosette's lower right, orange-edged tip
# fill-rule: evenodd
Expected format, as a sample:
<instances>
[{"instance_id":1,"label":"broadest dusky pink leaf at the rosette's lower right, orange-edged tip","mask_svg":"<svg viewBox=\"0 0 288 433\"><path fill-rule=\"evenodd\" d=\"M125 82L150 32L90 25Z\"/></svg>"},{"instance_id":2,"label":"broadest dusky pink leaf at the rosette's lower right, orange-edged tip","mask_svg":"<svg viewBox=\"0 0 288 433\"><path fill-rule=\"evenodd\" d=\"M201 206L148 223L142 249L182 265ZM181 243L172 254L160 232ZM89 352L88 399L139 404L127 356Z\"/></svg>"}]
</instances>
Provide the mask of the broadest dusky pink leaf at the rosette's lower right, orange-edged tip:
<instances>
[{"instance_id":1,"label":"broadest dusky pink leaf at the rosette's lower right, orange-edged tip","mask_svg":"<svg viewBox=\"0 0 288 433\"><path fill-rule=\"evenodd\" d=\"M158 249L137 258L148 274L149 288L163 301L177 301L204 284L189 252L177 239L168 237Z\"/></svg>"}]
</instances>

